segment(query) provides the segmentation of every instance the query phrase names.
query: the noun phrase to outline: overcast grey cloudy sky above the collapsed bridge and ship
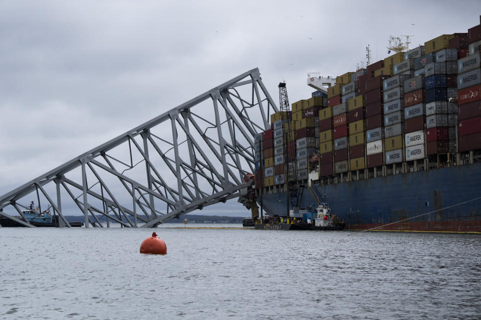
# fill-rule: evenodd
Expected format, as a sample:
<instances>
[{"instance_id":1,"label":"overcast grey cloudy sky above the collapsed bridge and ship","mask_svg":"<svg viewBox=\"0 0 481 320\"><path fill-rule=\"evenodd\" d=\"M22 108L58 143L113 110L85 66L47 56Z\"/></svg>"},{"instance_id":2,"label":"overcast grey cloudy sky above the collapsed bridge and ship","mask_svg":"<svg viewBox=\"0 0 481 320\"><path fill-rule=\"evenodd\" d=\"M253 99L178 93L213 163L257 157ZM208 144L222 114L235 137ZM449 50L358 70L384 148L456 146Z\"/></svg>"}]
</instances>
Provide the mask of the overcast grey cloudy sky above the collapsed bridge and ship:
<instances>
[{"instance_id":1,"label":"overcast grey cloudy sky above the collapsed bridge and ship","mask_svg":"<svg viewBox=\"0 0 481 320\"><path fill-rule=\"evenodd\" d=\"M353 71L368 44L383 59L389 35L467 32L481 12L387 2L0 0L0 195L252 68L295 102L308 72Z\"/></svg>"}]
</instances>

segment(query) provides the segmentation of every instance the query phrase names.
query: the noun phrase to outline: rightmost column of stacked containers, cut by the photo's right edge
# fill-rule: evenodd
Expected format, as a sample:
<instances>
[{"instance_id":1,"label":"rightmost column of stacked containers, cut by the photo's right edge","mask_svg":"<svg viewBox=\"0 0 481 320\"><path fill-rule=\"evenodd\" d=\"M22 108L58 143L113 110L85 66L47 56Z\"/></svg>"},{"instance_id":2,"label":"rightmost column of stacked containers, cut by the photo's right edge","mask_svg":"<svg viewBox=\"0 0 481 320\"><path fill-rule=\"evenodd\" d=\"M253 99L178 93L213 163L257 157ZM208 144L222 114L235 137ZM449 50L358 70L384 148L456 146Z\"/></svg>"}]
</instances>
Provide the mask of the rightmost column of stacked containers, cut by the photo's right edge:
<instances>
[{"instance_id":1,"label":"rightmost column of stacked containers, cut by the photo's right edge","mask_svg":"<svg viewBox=\"0 0 481 320\"><path fill-rule=\"evenodd\" d=\"M459 152L481 149L481 24L467 33L469 55L457 61Z\"/></svg>"}]
</instances>

